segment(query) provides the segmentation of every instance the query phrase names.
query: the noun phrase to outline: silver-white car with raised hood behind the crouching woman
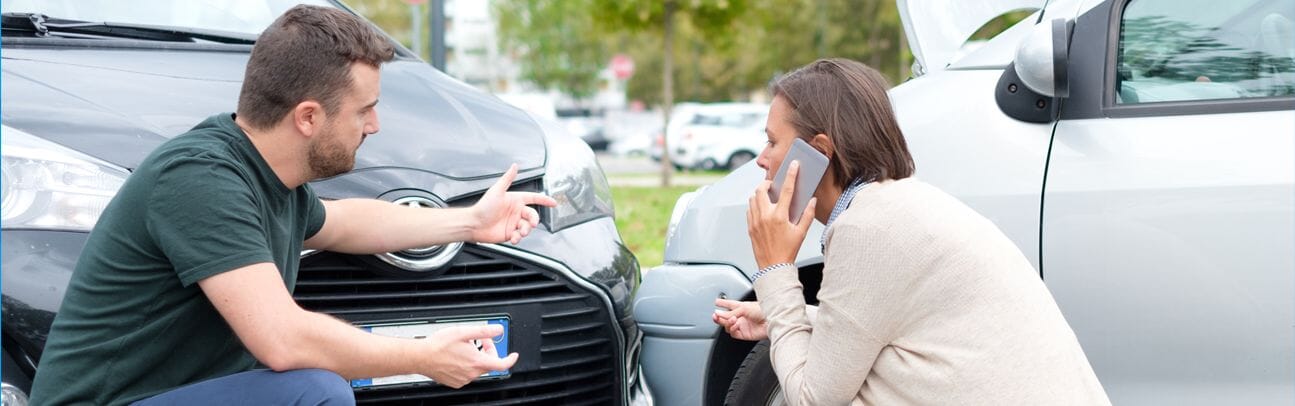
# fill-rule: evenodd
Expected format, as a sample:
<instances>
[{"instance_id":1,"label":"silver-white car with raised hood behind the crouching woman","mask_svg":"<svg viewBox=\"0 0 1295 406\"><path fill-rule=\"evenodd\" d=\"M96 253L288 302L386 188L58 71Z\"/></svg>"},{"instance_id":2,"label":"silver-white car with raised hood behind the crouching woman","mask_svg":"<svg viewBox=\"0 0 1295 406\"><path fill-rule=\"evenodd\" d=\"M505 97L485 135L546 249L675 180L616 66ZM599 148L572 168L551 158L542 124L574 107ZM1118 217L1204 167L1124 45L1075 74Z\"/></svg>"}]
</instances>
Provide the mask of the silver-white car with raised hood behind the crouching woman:
<instances>
[{"instance_id":1,"label":"silver-white car with raised hood behind the crouching woman","mask_svg":"<svg viewBox=\"0 0 1295 406\"><path fill-rule=\"evenodd\" d=\"M1044 6L954 59L991 18ZM1114 403L1295 403L1295 0L899 9L917 65L891 97L917 177L1030 257ZM747 164L675 207L635 305L662 405L777 402L754 343L710 318L752 299L761 178ZM821 231L798 259L809 300Z\"/></svg>"}]
</instances>

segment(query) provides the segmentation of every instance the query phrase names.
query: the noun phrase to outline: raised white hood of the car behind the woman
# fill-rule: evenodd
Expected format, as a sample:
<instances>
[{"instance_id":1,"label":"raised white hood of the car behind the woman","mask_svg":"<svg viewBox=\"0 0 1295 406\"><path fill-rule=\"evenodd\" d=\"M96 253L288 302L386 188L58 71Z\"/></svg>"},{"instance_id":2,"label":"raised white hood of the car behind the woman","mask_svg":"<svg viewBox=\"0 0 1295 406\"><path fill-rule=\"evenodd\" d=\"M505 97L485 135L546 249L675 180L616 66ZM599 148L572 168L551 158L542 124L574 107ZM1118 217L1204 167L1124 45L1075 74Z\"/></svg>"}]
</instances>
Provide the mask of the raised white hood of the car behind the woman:
<instances>
[{"instance_id":1,"label":"raised white hood of the car behind the woman","mask_svg":"<svg viewBox=\"0 0 1295 406\"><path fill-rule=\"evenodd\" d=\"M900 21L919 76L953 63L962 44L1004 13L1041 9L1045 0L897 0Z\"/></svg>"}]
</instances>

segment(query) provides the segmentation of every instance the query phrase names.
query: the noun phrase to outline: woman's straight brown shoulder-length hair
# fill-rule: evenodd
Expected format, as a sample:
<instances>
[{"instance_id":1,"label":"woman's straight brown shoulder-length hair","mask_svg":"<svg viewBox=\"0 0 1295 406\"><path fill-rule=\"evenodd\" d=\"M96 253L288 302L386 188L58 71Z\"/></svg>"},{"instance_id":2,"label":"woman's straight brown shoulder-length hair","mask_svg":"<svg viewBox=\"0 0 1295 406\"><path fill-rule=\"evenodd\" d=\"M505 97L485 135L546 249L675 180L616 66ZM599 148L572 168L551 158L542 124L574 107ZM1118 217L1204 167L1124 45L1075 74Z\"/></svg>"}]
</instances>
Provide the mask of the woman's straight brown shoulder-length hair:
<instances>
[{"instance_id":1,"label":"woman's straight brown shoulder-length hair","mask_svg":"<svg viewBox=\"0 0 1295 406\"><path fill-rule=\"evenodd\" d=\"M818 59L780 78L771 93L791 107L791 125L804 140L828 134L835 154L828 171L838 186L855 178L913 176L913 156L895 122L890 84L881 72L850 59Z\"/></svg>"}]
</instances>

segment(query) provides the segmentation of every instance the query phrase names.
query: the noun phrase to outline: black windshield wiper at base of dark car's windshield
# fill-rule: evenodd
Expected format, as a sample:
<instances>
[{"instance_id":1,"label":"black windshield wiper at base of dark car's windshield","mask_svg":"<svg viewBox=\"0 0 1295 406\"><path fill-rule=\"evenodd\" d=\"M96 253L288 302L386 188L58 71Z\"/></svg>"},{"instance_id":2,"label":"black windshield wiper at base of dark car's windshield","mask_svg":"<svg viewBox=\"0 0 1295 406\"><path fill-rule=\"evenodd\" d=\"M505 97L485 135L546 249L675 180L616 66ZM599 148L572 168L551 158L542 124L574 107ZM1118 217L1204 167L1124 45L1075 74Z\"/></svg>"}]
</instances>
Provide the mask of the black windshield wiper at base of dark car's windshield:
<instances>
[{"instance_id":1,"label":"black windshield wiper at base of dark car's windshield","mask_svg":"<svg viewBox=\"0 0 1295 406\"><path fill-rule=\"evenodd\" d=\"M3 31L3 35L16 34L35 37L124 37L168 43L193 43L194 40L206 40L221 44L247 45L256 43L255 35L238 32L190 27L63 19L39 13L0 14L0 31Z\"/></svg>"}]
</instances>

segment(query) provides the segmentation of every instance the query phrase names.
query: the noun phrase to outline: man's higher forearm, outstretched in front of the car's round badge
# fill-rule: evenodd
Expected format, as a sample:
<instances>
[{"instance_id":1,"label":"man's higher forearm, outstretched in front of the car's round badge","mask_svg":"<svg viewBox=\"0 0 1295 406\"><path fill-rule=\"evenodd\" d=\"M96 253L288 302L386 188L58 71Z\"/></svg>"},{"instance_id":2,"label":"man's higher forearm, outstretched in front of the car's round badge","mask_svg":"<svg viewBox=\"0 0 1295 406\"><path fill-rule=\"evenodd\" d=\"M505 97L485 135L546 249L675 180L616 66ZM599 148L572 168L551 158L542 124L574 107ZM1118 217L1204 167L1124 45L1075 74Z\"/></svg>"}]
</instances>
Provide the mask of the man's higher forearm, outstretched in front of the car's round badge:
<instances>
[{"instance_id":1,"label":"man's higher forearm, outstretched in front of the car's round badge","mask_svg":"<svg viewBox=\"0 0 1295 406\"><path fill-rule=\"evenodd\" d=\"M471 238L469 208L416 208L376 199L325 202L335 231L326 250L346 253L394 252ZM329 224L334 226L334 224Z\"/></svg>"}]
</instances>

